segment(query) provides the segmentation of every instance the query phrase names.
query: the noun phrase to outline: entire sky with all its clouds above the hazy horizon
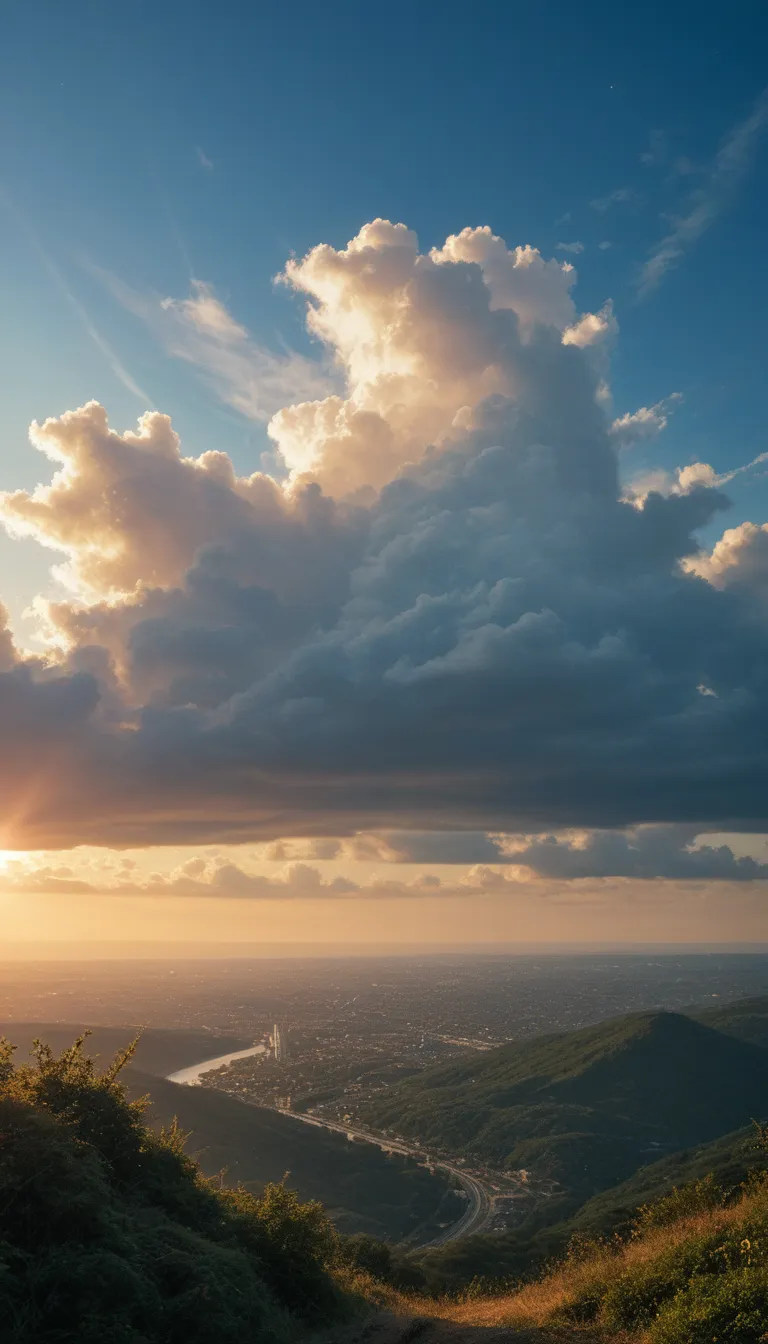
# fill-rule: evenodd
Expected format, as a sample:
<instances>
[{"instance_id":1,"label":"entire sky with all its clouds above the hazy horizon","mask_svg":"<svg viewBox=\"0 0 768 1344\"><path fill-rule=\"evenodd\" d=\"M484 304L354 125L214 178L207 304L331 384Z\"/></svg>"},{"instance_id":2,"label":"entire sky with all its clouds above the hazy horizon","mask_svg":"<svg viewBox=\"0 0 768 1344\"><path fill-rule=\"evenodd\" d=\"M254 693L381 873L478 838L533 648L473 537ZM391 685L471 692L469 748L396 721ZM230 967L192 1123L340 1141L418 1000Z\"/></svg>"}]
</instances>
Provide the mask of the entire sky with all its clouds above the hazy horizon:
<instances>
[{"instance_id":1,"label":"entire sky with all its clouds above the hazy horizon","mask_svg":"<svg viewBox=\"0 0 768 1344\"><path fill-rule=\"evenodd\" d=\"M4 8L8 945L768 941L767 55Z\"/></svg>"}]
</instances>

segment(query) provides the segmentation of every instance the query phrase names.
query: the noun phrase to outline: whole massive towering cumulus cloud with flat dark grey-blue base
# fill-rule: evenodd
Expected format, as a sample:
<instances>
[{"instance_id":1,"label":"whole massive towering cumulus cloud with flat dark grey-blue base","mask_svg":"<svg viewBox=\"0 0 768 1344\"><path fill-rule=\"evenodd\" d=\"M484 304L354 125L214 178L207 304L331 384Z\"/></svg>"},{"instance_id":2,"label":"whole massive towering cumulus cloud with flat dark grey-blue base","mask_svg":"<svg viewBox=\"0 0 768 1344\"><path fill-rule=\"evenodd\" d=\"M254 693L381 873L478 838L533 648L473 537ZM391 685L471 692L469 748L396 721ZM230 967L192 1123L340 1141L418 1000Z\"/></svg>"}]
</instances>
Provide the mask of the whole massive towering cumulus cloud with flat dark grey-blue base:
<instances>
[{"instance_id":1,"label":"whole massive towering cumulus cloud with flat dark grey-blue base","mask_svg":"<svg viewBox=\"0 0 768 1344\"><path fill-rule=\"evenodd\" d=\"M13 843L763 824L757 585L706 570L720 478L623 497L616 324L574 281L386 220L292 261L343 394L273 415L284 482L186 457L157 413L34 426L54 477L3 516L69 591L38 607L48 657L0 672ZM183 302L157 308L247 340Z\"/></svg>"}]
</instances>

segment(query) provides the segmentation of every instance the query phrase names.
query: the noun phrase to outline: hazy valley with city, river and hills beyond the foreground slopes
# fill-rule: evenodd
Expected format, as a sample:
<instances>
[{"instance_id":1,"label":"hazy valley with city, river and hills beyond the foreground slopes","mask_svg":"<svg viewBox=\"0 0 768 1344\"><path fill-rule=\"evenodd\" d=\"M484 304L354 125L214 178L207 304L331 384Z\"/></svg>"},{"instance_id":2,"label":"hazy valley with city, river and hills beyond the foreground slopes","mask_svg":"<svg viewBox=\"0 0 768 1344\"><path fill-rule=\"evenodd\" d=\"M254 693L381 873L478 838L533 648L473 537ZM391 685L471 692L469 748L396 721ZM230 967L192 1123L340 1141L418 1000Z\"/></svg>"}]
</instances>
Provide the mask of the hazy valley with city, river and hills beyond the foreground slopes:
<instances>
[{"instance_id":1,"label":"hazy valley with city, river and hills beyond the foreground slopes","mask_svg":"<svg viewBox=\"0 0 768 1344\"><path fill-rule=\"evenodd\" d=\"M148 1013L155 1023L97 1025L89 1050L104 1064L139 1035L122 1071L128 1093L149 1098L157 1128L178 1117L206 1173L249 1189L288 1173L342 1232L383 1239L409 1274L453 1286L527 1273L570 1235L621 1226L678 1180L751 1169L749 1122L768 1111L768 997L738 989L768 982L765 960L670 958L658 978L644 958L616 968L625 1000L636 968L646 1001L662 1009L612 1016L607 958L539 968L538 999L522 961L436 958L364 972L227 966L221 988L215 976L200 984L204 1020L191 968L172 977L155 968L164 1000ZM573 977L573 995L553 995L555 977L566 991ZM480 980L484 1023L472 1012ZM98 977L82 1007L94 989ZM689 1008L697 989L713 1007ZM104 993L118 995L120 978ZM521 995L529 1021L564 1027L500 1039ZM679 1007L687 1012L668 1011ZM585 1015L597 1021L582 1025ZM34 1036L61 1050L86 1020L0 1031L22 1052Z\"/></svg>"}]
</instances>

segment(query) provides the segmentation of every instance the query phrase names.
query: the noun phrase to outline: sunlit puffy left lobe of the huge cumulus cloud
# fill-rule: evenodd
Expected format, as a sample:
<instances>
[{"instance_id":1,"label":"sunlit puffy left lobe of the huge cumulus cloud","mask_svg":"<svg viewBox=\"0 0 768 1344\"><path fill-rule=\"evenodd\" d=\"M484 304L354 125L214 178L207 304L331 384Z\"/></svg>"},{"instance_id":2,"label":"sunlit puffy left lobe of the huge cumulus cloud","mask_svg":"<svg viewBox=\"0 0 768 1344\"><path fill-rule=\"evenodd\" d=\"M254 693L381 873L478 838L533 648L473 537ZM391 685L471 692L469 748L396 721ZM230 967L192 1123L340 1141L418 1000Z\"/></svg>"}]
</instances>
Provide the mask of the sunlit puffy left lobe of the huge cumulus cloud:
<instances>
[{"instance_id":1,"label":"sunlit puffy left lobe of the huge cumulus cloud","mask_svg":"<svg viewBox=\"0 0 768 1344\"><path fill-rule=\"evenodd\" d=\"M114 599L139 593L151 602L151 591L172 590L200 552L210 555L222 542L231 552L241 536L261 550L274 591L291 587L292 574L296 581L296 571L311 563L299 532L313 524L321 530L325 517L332 546L342 540L340 511L316 488L286 495L261 472L237 477L226 453L215 450L183 457L169 418L157 411L143 415L136 431L118 434L104 407L90 402L59 419L35 422L30 438L58 470L50 485L3 495L0 513L15 535L67 556L58 577L81 595ZM108 620L116 610L89 606L82 616L93 621L101 612Z\"/></svg>"}]
</instances>

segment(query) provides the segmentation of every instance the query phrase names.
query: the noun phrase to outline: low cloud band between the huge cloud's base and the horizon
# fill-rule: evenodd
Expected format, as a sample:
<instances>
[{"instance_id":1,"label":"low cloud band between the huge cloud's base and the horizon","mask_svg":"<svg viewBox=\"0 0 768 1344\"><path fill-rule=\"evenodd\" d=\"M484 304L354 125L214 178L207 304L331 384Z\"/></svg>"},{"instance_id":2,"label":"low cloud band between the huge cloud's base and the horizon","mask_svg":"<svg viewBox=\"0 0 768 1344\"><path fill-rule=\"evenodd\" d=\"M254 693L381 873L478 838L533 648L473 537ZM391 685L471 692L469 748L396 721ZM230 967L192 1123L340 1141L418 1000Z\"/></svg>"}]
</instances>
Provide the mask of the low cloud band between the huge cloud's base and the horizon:
<instances>
[{"instance_id":1,"label":"low cloud band between the huge cloud's base and the horizon","mask_svg":"<svg viewBox=\"0 0 768 1344\"><path fill-rule=\"evenodd\" d=\"M286 859L286 856L291 856ZM297 857L300 855L301 857ZM686 824L644 825L629 831L565 835L487 835L483 832L387 832L346 839L286 840L264 847L262 859L281 859L274 871L253 871L221 853L199 856L165 872L139 876L135 864L71 864L15 860L0 874L0 890L28 895L179 896L238 900L461 898L516 895L529 887L550 896L553 883L586 879L632 882L768 880L768 863L736 856L728 844L712 845ZM420 872L402 880L374 872L360 880L323 874L311 857L375 859L379 863L461 866L457 876ZM615 890L615 888L612 888Z\"/></svg>"}]
</instances>

